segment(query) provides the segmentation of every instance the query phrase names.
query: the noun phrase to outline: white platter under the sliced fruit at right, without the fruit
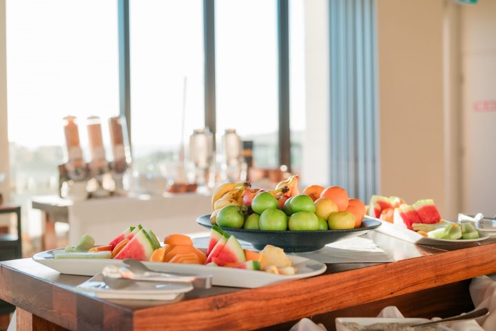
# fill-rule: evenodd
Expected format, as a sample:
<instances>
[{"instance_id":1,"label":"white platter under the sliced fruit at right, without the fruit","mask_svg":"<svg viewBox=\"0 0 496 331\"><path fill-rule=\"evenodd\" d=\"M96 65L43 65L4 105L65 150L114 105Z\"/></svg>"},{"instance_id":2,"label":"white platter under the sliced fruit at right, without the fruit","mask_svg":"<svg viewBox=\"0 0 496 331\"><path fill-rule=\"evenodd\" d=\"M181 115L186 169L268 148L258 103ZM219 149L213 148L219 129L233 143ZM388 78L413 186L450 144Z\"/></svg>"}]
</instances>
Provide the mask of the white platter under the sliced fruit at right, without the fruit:
<instances>
[{"instance_id":1,"label":"white platter under the sliced fruit at right, without the fruit","mask_svg":"<svg viewBox=\"0 0 496 331\"><path fill-rule=\"evenodd\" d=\"M378 220L377 218L365 216L371 220ZM437 245L437 246L446 246L446 245L456 245L456 244L467 244L471 242L480 242L482 240L488 239L488 233L484 233L482 231L477 230L479 233L479 238L477 239L436 239L424 237L416 233L415 231L411 231L408 228L402 228L400 226L396 226L392 223L379 220L382 225L376 228L374 231L378 231L380 233L384 233L385 235L391 235L391 237L395 237L397 239L402 239L405 242L411 242L412 244L421 244L421 245Z\"/></svg>"}]
</instances>

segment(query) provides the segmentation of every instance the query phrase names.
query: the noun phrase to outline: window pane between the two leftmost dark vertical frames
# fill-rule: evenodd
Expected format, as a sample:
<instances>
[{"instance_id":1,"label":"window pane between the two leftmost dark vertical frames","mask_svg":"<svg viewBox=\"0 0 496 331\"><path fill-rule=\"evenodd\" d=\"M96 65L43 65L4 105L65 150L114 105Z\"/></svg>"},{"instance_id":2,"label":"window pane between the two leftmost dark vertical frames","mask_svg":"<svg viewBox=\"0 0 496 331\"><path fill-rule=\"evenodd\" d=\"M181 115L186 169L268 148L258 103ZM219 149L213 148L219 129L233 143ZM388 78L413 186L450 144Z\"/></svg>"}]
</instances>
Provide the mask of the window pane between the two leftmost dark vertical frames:
<instances>
[{"instance_id":1,"label":"window pane between the two leftmost dark vertical frames","mask_svg":"<svg viewBox=\"0 0 496 331\"><path fill-rule=\"evenodd\" d=\"M202 0L130 1L132 146L141 173L163 172L205 126L203 59Z\"/></svg>"}]
</instances>

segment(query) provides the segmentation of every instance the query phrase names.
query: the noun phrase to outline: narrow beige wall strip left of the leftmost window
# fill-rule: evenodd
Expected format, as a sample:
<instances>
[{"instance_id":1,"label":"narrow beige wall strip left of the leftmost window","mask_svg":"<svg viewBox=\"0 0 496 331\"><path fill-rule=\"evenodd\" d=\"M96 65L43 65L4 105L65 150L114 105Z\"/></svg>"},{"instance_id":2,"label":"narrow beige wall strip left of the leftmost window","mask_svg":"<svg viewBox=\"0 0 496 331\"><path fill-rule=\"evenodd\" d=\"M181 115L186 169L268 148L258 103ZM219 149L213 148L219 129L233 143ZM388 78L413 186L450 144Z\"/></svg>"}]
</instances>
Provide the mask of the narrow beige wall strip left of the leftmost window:
<instances>
[{"instance_id":1,"label":"narrow beige wall strip left of the leftmost window","mask_svg":"<svg viewBox=\"0 0 496 331\"><path fill-rule=\"evenodd\" d=\"M6 1L0 0L0 173L8 172ZM8 197L8 177L0 184L0 193Z\"/></svg>"}]
</instances>

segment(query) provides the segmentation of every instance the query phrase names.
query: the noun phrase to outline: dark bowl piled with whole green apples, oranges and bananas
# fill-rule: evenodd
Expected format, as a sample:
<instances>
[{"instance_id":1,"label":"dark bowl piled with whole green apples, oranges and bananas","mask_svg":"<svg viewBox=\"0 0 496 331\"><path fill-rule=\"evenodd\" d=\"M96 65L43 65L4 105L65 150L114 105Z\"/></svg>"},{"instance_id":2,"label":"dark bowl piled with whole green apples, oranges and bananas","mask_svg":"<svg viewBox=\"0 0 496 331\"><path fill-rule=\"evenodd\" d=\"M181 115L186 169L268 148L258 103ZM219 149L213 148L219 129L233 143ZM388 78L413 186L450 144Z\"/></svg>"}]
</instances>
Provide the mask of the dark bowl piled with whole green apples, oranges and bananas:
<instances>
[{"instance_id":1,"label":"dark bowl piled with whole green apples, oranges and bananas","mask_svg":"<svg viewBox=\"0 0 496 331\"><path fill-rule=\"evenodd\" d=\"M286 252L318 250L380 226L364 220L365 205L342 187L313 184L300 194L298 180L293 175L271 191L252 188L249 182L221 184L212 195L214 211L197 222L220 226L257 249L273 244Z\"/></svg>"}]
</instances>

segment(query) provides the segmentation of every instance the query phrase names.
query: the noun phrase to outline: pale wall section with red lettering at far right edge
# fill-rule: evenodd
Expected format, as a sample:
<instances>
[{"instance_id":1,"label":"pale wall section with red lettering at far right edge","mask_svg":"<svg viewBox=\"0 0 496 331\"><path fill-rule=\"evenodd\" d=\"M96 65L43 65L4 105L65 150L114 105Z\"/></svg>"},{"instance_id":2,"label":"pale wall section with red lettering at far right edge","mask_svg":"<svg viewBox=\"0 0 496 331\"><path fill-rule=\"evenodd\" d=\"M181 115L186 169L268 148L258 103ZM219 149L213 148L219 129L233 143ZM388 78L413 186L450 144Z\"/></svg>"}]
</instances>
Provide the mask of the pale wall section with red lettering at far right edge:
<instances>
[{"instance_id":1,"label":"pale wall section with red lettering at far right edge","mask_svg":"<svg viewBox=\"0 0 496 331\"><path fill-rule=\"evenodd\" d=\"M463 211L496 214L496 1L462 7ZM490 100L491 111L476 111ZM479 109L482 110L482 109Z\"/></svg>"}]
</instances>

